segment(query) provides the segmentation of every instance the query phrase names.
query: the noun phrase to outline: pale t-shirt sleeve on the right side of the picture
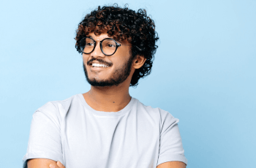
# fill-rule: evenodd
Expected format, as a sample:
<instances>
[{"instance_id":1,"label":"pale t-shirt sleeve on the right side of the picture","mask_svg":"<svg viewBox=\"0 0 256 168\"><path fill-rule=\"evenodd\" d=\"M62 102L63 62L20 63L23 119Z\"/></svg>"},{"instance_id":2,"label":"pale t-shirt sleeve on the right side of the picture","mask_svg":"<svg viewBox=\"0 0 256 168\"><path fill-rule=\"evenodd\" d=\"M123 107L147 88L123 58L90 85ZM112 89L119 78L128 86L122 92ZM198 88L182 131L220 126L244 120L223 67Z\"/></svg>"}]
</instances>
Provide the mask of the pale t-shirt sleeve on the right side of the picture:
<instances>
[{"instance_id":1,"label":"pale t-shirt sleeve on the right side of the picture","mask_svg":"<svg viewBox=\"0 0 256 168\"><path fill-rule=\"evenodd\" d=\"M169 112L163 111L162 127L160 133L160 149L157 166L167 161L182 161L187 164L184 156L184 148L181 142L181 134L178 129L178 118L174 118Z\"/></svg>"}]
</instances>

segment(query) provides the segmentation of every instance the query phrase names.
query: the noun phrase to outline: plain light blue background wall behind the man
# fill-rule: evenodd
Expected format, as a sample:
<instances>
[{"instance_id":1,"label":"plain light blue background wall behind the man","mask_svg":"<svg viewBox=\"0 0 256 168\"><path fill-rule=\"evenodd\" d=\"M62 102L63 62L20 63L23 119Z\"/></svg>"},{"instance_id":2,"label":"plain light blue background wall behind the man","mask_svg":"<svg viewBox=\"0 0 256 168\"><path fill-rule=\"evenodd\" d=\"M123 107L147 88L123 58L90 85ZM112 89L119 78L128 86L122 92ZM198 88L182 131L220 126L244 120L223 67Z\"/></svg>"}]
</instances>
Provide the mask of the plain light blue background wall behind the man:
<instances>
[{"instance_id":1,"label":"plain light blue background wall behind the man","mask_svg":"<svg viewBox=\"0 0 256 168\"><path fill-rule=\"evenodd\" d=\"M21 167L38 107L89 91L75 30L114 2L1 1L0 167ZM256 1L128 4L148 11L160 38L151 75L130 93L179 118L187 167L255 167Z\"/></svg>"}]
</instances>

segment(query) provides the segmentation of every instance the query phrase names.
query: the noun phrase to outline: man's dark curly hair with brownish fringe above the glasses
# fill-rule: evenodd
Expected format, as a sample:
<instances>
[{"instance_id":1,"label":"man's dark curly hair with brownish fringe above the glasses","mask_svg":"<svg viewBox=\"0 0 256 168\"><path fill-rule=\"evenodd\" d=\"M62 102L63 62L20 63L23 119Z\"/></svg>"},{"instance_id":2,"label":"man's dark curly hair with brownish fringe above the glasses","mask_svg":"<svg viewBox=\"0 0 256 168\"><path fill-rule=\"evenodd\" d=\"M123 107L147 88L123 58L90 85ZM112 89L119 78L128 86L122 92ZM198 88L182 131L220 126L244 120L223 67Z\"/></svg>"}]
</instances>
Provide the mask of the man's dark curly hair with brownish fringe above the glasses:
<instances>
[{"instance_id":1,"label":"man's dark curly hair with brownish fringe above the glasses","mask_svg":"<svg viewBox=\"0 0 256 168\"><path fill-rule=\"evenodd\" d=\"M107 33L113 39L127 40L132 45L132 58L138 55L146 58L143 66L135 69L130 86L137 86L140 77L151 73L159 37L155 31L154 20L147 16L145 9L138 9L138 12L135 12L126 5L124 8L118 7L117 4L110 7L99 6L78 24L75 48L79 53L82 53L79 47L80 40L92 32L95 35Z\"/></svg>"}]
</instances>

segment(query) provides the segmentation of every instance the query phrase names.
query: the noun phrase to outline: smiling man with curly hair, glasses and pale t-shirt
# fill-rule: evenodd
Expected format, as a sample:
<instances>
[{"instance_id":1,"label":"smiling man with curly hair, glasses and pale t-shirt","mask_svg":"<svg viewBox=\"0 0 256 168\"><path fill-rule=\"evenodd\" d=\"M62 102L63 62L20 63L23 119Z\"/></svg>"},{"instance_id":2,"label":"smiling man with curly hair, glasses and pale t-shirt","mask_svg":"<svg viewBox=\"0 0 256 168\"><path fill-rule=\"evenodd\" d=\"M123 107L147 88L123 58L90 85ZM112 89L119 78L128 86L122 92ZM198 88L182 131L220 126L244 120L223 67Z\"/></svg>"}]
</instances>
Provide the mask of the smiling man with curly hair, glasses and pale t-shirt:
<instances>
[{"instance_id":1,"label":"smiling man with curly hair, glasses and pale t-shirt","mask_svg":"<svg viewBox=\"0 0 256 168\"><path fill-rule=\"evenodd\" d=\"M141 9L98 7L86 15L75 47L91 90L34 112L23 167L186 167L178 119L129 95L151 72L154 27Z\"/></svg>"}]
</instances>

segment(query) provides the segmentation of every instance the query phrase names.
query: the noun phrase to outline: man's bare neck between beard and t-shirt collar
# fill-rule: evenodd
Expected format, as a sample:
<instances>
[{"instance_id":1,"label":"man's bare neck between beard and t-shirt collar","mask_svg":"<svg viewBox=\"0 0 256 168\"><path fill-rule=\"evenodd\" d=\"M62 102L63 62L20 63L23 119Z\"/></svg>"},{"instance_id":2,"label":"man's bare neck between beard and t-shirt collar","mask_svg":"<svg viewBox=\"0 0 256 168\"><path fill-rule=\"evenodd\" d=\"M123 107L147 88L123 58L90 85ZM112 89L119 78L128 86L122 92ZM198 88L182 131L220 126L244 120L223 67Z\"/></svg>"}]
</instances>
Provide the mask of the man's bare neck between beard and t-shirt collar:
<instances>
[{"instance_id":1,"label":"man's bare neck between beard and t-shirt collar","mask_svg":"<svg viewBox=\"0 0 256 168\"><path fill-rule=\"evenodd\" d=\"M86 103L94 110L104 112L118 112L129 104L129 83L116 86L92 86L91 90L83 93Z\"/></svg>"}]
</instances>

